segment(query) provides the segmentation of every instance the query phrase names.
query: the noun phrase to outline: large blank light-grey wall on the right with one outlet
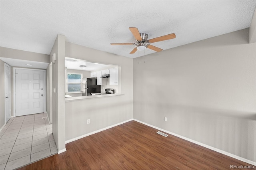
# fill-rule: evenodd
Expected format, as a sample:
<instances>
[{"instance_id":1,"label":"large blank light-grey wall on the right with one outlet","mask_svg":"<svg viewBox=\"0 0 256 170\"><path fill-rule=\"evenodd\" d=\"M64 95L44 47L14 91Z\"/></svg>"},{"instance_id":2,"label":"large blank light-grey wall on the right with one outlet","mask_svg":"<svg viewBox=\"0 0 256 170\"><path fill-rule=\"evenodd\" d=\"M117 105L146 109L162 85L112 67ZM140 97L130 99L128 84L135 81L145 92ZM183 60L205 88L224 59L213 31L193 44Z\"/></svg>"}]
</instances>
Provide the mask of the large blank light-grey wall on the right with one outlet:
<instances>
[{"instance_id":1,"label":"large blank light-grey wall on the right with one outlet","mask_svg":"<svg viewBox=\"0 0 256 170\"><path fill-rule=\"evenodd\" d=\"M256 162L256 43L248 32L135 58L133 118Z\"/></svg>"}]
</instances>

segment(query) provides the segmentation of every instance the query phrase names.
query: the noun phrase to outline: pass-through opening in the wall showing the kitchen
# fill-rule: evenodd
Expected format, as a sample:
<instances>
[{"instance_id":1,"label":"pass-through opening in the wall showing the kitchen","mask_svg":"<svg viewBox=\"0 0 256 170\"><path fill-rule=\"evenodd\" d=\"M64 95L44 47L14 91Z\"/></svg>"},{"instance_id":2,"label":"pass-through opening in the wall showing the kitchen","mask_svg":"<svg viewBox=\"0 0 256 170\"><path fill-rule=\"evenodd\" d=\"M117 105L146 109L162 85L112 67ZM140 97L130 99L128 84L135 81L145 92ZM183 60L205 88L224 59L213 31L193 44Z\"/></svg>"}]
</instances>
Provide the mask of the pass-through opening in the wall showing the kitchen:
<instances>
[{"instance_id":1,"label":"pass-through opening in the wall showing the kitchen","mask_svg":"<svg viewBox=\"0 0 256 170\"><path fill-rule=\"evenodd\" d=\"M120 67L65 57L65 97L120 93Z\"/></svg>"}]
</instances>

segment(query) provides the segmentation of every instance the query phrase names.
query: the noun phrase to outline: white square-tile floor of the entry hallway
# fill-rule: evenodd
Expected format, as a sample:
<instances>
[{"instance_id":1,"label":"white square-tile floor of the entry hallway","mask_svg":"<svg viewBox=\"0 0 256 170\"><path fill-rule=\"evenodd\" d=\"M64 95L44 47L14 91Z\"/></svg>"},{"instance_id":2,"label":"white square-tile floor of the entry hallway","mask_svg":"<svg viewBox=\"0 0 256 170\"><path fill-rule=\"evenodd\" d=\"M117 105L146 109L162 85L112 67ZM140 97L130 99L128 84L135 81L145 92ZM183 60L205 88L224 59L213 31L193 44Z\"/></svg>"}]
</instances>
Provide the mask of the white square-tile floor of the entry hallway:
<instances>
[{"instance_id":1,"label":"white square-tile floor of the entry hallway","mask_svg":"<svg viewBox=\"0 0 256 170\"><path fill-rule=\"evenodd\" d=\"M12 170L58 152L44 113L11 118L0 131L0 170Z\"/></svg>"}]
</instances>

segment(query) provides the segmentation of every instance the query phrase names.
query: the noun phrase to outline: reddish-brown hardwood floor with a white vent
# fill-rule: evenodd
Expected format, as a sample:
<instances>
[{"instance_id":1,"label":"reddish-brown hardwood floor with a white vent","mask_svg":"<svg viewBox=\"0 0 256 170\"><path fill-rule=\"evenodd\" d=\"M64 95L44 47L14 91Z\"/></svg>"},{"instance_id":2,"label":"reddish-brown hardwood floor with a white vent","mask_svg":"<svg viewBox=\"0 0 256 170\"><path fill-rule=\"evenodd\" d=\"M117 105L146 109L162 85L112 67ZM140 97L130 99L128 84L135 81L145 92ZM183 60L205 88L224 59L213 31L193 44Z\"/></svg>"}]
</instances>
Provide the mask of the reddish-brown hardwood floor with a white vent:
<instances>
[{"instance_id":1,"label":"reddish-brown hardwood floor with a white vent","mask_svg":"<svg viewBox=\"0 0 256 170\"><path fill-rule=\"evenodd\" d=\"M20 170L230 170L230 165L250 165L176 136L161 136L157 131L130 121L70 142L66 152Z\"/></svg>"}]
</instances>

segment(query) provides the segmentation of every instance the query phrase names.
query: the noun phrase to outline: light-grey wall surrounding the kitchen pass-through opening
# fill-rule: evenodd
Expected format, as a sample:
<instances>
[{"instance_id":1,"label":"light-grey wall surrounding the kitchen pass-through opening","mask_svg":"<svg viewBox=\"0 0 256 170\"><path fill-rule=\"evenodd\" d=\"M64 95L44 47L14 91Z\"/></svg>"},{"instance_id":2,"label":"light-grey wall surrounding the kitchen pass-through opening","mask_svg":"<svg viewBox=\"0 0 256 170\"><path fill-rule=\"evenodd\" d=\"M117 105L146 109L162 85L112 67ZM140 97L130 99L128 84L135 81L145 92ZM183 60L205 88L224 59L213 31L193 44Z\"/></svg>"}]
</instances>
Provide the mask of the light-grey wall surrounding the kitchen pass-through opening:
<instances>
[{"instance_id":1,"label":"light-grey wall surrounding the kitchen pass-through opening","mask_svg":"<svg viewBox=\"0 0 256 170\"><path fill-rule=\"evenodd\" d=\"M66 140L132 119L133 60L66 42L66 57L119 66L124 96L66 102ZM90 124L86 120L90 119Z\"/></svg>"}]
</instances>

